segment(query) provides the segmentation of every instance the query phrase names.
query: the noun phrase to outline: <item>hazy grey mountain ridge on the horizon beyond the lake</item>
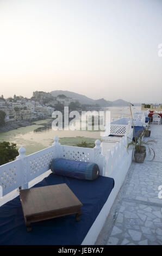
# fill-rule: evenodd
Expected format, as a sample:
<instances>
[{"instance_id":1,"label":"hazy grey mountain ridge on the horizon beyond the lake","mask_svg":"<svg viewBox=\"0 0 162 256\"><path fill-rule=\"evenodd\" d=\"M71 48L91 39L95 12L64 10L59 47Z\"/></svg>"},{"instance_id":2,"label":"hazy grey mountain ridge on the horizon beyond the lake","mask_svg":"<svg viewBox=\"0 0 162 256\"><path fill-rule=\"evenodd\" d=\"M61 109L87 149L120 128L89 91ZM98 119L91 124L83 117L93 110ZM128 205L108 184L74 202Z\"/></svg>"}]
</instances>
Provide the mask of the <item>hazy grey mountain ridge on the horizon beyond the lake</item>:
<instances>
[{"instance_id":1,"label":"hazy grey mountain ridge on the horizon beyond the lake","mask_svg":"<svg viewBox=\"0 0 162 256\"><path fill-rule=\"evenodd\" d=\"M129 104L127 101L124 101L122 99L118 99L115 101L108 101L105 99L93 100L85 95L69 92L68 90L54 90L51 92L51 94L54 97L57 97L59 94L64 94L66 97L72 97L73 99L78 100L81 104L88 104L88 105L98 104L101 107L128 106Z\"/></svg>"}]
</instances>

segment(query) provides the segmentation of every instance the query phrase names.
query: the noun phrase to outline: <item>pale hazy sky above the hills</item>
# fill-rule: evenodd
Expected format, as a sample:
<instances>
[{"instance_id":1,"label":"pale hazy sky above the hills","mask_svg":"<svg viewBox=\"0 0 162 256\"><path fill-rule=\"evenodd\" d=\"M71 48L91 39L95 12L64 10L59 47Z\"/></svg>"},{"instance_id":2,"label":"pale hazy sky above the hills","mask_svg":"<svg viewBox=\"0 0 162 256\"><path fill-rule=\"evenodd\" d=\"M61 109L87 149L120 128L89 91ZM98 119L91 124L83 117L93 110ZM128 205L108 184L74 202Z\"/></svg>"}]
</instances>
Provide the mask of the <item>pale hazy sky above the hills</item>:
<instances>
[{"instance_id":1,"label":"pale hazy sky above the hills","mask_svg":"<svg viewBox=\"0 0 162 256\"><path fill-rule=\"evenodd\" d=\"M0 0L0 95L162 103L162 0Z\"/></svg>"}]
</instances>

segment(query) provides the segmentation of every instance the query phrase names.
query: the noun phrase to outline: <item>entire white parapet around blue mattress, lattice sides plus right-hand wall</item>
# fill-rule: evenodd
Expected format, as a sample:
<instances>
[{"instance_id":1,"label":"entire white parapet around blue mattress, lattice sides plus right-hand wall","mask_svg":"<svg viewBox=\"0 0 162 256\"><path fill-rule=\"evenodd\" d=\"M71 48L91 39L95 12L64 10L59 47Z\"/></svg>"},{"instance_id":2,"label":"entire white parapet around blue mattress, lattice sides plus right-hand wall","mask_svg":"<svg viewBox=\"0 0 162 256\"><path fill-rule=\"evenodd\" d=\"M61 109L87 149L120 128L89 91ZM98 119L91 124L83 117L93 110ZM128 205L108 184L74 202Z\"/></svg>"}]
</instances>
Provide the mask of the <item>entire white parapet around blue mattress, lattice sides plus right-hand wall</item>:
<instances>
[{"instance_id":1,"label":"entire white parapet around blue mattress, lattice sides plus right-hand wall","mask_svg":"<svg viewBox=\"0 0 162 256\"><path fill-rule=\"evenodd\" d=\"M21 147L15 161L0 166L0 196L3 196L1 205L11 200L12 192L16 191L16 197L19 187L28 188L32 186L31 184L39 182L43 175L48 175L53 158L63 157L76 161L95 162L99 166L100 175L113 178L115 186L82 242L82 245L94 245L132 163L133 149L127 147L132 137L133 130L130 129L127 135L122 138L117 137L119 141L105 154L102 153L99 140L95 142L95 148L80 148L61 145L58 137L54 137L51 147L28 156L26 156L26 149Z\"/></svg>"}]
</instances>

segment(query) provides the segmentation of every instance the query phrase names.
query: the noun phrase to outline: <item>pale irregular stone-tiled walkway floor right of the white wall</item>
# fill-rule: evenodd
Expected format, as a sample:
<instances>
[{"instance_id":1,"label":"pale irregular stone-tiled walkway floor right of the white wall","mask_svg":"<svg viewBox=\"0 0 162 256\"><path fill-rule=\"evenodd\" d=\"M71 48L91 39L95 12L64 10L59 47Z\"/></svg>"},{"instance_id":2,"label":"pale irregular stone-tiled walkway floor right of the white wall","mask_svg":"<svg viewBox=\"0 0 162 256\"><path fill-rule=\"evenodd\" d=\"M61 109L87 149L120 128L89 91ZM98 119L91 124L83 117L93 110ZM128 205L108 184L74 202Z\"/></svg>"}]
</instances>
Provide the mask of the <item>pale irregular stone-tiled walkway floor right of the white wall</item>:
<instances>
[{"instance_id":1,"label":"pale irregular stone-tiled walkway floor right of the white wall","mask_svg":"<svg viewBox=\"0 0 162 256\"><path fill-rule=\"evenodd\" d=\"M162 125L151 125L155 159L132 163L96 245L162 245Z\"/></svg>"}]
</instances>

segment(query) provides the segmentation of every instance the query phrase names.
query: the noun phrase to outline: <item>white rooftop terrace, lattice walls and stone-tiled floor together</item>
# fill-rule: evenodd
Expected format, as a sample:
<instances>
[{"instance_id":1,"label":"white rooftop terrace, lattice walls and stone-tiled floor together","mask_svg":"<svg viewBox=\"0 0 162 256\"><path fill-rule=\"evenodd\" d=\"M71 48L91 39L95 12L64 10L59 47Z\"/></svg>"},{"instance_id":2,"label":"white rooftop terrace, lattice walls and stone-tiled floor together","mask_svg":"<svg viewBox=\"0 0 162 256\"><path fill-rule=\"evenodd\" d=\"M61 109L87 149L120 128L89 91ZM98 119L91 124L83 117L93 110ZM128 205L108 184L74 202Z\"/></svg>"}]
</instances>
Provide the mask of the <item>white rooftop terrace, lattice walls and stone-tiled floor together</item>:
<instances>
[{"instance_id":1,"label":"white rooftop terrace, lattice walls and stone-tiled floor together","mask_svg":"<svg viewBox=\"0 0 162 256\"><path fill-rule=\"evenodd\" d=\"M135 118L141 123L143 117ZM32 155L26 156L21 147L15 161L0 167L0 206L17 197L20 186L30 188L51 174L53 158L95 162L100 175L113 178L115 186L82 245L161 245L162 199L158 198L158 187L162 185L162 125L151 125L149 139L157 141L155 159L149 161L147 154L139 164L132 162L133 147L127 149L133 138L132 125L122 120L111 125L115 136L102 143L97 140L93 149L60 145L58 137L51 147ZM143 121L142 125L147 124Z\"/></svg>"}]
</instances>

